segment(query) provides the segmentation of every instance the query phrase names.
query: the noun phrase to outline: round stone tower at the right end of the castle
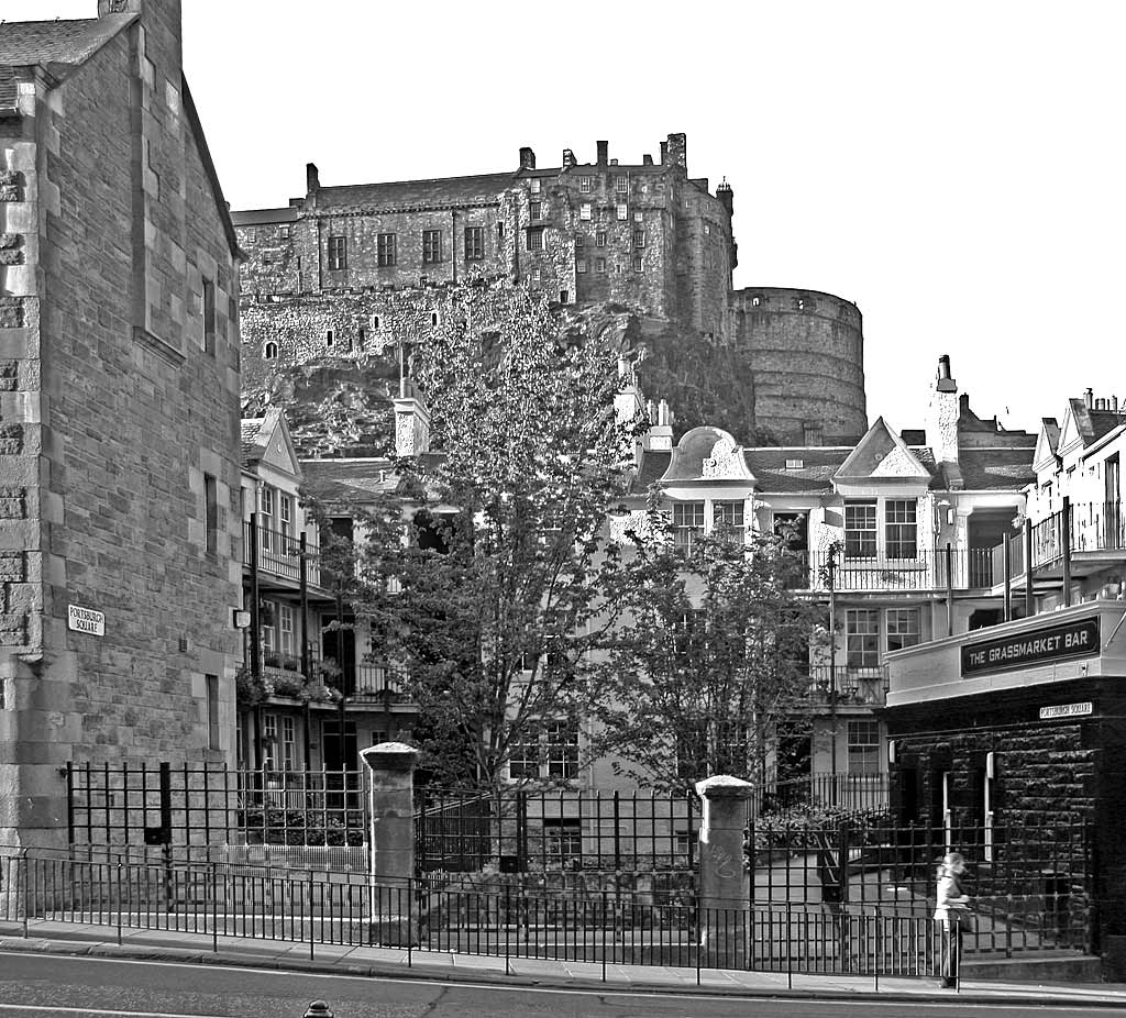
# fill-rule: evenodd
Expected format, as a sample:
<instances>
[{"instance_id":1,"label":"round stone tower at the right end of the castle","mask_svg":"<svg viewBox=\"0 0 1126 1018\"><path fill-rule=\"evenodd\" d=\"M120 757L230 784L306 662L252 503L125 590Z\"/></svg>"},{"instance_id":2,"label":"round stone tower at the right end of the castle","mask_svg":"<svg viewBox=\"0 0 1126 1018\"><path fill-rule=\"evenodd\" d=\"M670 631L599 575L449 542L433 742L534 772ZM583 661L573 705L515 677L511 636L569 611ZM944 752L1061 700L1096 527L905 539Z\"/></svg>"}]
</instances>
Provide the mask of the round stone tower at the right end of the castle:
<instances>
[{"instance_id":1,"label":"round stone tower at the right end of the castle","mask_svg":"<svg viewBox=\"0 0 1126 1018\"><path fill-rule=\"evenodd\" d=\"M868 429L860 309L815 289L751 286L731 298L750 365L758 441L821 444Z\"/></svg>"}]
</instances>

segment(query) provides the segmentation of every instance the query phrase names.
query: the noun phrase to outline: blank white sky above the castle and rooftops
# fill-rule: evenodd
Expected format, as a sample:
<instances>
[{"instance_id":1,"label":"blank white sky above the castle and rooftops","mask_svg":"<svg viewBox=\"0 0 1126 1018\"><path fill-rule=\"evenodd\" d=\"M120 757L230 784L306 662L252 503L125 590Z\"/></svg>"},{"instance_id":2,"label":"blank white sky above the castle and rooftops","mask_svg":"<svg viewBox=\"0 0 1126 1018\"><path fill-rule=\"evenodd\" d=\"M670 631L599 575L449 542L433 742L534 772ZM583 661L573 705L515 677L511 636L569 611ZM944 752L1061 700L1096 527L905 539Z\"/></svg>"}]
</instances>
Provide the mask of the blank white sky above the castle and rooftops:
<instances>
[{"instance_id":1,"label":"blank white sky above the castle and rooftops","mask_svg":"<svg viewBox=\"0 0 1126 1018\"><path fill-rule=\"evenodd\" d=\"M734 189L734 284L864 314L868 414L922 422L949 354L982 417L1126 403L1126 3L185 0L235 209L324 185L659 158ZM0 0L9 20L96 0ZM2 30L2 27L0 27ZM1126 303L1126 301L1124 301Z\"/></svg>"}]
</instances>

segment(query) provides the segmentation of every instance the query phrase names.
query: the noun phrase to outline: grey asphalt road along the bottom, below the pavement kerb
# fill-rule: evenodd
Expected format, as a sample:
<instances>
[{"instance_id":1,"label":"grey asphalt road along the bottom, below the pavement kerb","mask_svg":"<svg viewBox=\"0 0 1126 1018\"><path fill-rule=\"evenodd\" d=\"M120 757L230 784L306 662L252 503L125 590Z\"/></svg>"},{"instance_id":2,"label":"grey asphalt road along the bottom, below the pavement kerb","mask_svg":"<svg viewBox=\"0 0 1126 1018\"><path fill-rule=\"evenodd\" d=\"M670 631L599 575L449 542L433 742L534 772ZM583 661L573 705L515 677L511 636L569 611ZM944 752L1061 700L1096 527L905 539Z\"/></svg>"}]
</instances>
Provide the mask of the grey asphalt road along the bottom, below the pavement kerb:
<instances>
[{"instance_id":1,"label":"grey asphalt road along the bottom, below the pavement kerb","mask_svg":"<svg viewBox=\"0 0 1126 1018\"><path fill-rule=\"evenodd\" d=\"M1098 1010L504 988L0 952L0 1018L302 1018L319 999L334 1018L858 1018L863 1011L897 1018L908 1008L912 1018L1053 1018Z\"/></svg>"}]
</instances>

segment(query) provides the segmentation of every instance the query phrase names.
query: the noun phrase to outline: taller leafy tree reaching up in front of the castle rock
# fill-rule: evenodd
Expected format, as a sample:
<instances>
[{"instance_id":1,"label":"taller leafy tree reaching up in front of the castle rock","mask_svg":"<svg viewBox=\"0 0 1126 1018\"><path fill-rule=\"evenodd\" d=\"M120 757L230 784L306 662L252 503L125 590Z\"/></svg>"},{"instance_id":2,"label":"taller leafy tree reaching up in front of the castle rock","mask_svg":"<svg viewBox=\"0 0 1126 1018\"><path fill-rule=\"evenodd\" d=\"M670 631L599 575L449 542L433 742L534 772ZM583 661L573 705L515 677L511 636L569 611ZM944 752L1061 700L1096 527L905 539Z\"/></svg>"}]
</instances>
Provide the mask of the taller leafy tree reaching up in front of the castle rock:
<instances>
[{"instance_id":1,"label":"taller leafy tree reaching up in front of the castle rock","mask_svg":"<svg viewBox=\"0 0 1126 1018\"><path fill-rule=\"evenodd\" d=\"M422 766L497 789L513 754L537 776L529 748L579 721L578 662L615 617L605 524L640 422L615 418L617 350L543 301L465 287L438 318L410 357L436 452L348 507L365 541L339 552L341 593L403 669Z\"/></svg>"}]
</instances>

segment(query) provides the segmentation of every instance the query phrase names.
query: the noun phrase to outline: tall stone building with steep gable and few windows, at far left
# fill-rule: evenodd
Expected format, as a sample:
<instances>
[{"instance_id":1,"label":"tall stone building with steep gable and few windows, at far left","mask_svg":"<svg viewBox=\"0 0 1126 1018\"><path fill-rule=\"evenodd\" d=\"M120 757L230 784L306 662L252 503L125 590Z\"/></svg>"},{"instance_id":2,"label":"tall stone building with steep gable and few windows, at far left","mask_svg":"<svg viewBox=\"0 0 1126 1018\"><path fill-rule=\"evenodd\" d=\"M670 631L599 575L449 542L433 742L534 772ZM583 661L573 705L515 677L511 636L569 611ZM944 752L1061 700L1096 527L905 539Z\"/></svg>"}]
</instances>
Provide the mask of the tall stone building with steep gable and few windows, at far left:
<instances>
[{"instance_id":1,"label":"tall stone building with steep gable and few windows, at far left","mask_svg":"<svg viewBox=\"0 0 1126 1018\"><path fill-rule=\"evenodd\" d=\"M238 241L178 0L0 30L0 842L68 761L233 762Z\"/></svg>"}]
</instances>

